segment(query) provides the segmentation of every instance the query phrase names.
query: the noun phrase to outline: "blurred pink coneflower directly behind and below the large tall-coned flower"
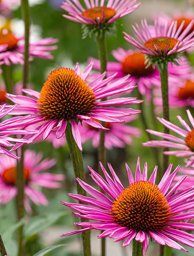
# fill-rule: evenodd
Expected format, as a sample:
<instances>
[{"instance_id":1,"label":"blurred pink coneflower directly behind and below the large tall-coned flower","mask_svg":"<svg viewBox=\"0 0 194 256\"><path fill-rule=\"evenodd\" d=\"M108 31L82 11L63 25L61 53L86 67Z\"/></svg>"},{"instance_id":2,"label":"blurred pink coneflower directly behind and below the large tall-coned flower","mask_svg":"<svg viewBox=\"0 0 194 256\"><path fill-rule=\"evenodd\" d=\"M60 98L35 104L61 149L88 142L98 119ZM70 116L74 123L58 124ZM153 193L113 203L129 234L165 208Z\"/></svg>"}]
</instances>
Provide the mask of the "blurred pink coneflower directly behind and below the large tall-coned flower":
<instances>
[{"instance_id":1,"label":"blurred pink coneflower directly behind and below the large tall-coned flower","mask_svg":"<svg viewBox=\"0 0 194 256\"><path fill-rule=\"evenodd\" d=\"M126 121L124 124L105 123L106 128L109 128L109 130L105 131L104 146L110 150L113 147L124 148L126 144L132 145L133 137L141 136L140 129L128 125L129 122L136 118L136 116L122 118L122 120ZM99 146L100 132L97 128L92 127L83 121L82 125L79 125L79 130L82 137L82 143L91 140L93 147L97 148Z\"/></svg>"}]
</instances>

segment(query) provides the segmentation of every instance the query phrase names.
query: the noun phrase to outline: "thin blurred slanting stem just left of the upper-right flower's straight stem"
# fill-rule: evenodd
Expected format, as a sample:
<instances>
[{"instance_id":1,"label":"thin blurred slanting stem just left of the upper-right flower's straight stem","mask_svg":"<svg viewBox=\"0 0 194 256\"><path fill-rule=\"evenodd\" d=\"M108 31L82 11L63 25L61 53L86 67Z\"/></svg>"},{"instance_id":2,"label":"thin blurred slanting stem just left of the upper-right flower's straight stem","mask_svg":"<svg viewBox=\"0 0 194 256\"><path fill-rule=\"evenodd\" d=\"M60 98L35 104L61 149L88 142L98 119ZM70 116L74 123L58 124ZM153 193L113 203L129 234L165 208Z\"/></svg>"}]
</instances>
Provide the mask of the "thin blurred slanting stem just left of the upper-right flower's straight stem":
<instances>
[{"instance_id":1,"label":"thin blurred slanting stem just left of the upper-right flower's straight stem","mask_svg":"<svg viewBox=\"0 0 194 256\"><path fill-rule=\"evenodd\" d=\"M137 96L138 99L142 100L143 98L142 98L141 93L139 93L139 90L137 90L137 92L138 92L138 96ZM144 129L147 130L147 129L149 129L149 127L148 127L148 123L147 123L146 117L145 117L145 107L143 106L143 102L139 103L139 108L142 111L139 114L142 125L143 125ZM146 132L146 134L148 135L149 140L152 141L153 140L152 135L149 132ZM161 170L161 164L160 164L160 159L159 159L159 155L158 155L158 149L157 148L151 148L151 150L153 151L154 158L156 159L156 164L158 166L158 170Z\"/></svg>"}]
</instances>

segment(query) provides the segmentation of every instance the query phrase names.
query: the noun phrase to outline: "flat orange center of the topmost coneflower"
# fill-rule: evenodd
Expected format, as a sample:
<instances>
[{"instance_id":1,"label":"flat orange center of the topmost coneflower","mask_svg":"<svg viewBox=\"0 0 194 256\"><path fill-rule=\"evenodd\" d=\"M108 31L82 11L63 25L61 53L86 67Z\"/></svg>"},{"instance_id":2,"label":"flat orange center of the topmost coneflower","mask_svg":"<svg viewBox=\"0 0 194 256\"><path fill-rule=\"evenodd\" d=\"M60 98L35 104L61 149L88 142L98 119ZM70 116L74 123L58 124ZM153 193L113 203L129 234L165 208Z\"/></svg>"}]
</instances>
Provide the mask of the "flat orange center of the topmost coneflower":
<instances>
[{"instance_id":1,"label":"flat orange center of the topmost coneflower","mask_svg":"<svg viewBox=\"0 0 194 256\"><path fill-rule=\"evenodd\" d=\"M108 8L106 6L98 6L91 9L87 9L86 11L82 12L82 16L87 17L91 20L100 20L107 21L113 16L115 16L116 11L112 8Z\"/></svg>"}]
</instances>

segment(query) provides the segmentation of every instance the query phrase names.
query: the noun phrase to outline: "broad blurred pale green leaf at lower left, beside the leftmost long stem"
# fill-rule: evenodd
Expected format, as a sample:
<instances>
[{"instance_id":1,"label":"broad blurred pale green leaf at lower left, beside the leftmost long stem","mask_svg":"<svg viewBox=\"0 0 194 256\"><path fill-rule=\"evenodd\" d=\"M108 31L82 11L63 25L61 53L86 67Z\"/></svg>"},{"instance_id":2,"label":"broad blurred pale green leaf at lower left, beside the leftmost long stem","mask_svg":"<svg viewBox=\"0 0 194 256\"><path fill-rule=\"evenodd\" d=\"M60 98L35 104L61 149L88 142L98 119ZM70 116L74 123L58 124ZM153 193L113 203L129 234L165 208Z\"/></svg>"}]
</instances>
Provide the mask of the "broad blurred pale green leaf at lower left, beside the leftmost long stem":
<instances>
[{"instance_id":1,"label":"broad blurred pale green leaf at lower left, beside the leftmost long stem","mask_svg":"<svg viewBox=\"0 0 194 256\"><path fill-rule=\"evenodd\" d=\"M24 228L24 236L26 239L30 238L30 236L36 235L40 231L48 228L57 222L61 217L66 216L67 213L64 212L55 212L44 215L39 215L32 217L29 222L25 225Z\"/></svg>"}]
</instances>

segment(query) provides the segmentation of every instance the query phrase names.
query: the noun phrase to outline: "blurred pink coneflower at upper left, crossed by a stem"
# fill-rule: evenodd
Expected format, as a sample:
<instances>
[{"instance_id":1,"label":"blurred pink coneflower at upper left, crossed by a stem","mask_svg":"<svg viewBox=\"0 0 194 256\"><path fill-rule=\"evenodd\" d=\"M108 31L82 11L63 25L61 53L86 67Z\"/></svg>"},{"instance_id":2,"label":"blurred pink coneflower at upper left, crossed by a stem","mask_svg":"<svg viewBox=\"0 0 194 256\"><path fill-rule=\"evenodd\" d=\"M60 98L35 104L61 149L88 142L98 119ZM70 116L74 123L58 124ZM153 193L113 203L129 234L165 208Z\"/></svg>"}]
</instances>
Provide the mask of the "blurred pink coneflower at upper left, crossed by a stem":
<instances>
[{"instance_id":1,"label":"blurred pink coneflower at upper left, crossed by a stem","mask_svg":"<svg viewBox=\"0 0 194 256\"><path fill-rule=\"evenodd\" d=\"M56 45L52 45L56 42L58 42L58 39L53 38L30 42L29 54L37 58L53 59L50 51L57 49ZM24 64L24 36L16 37L16 35L5 29L0 32L0 46L5 47L0 49L0 61L3 61L5 65L10 65L11 63Z\"/></svg>"}]
</instances>

